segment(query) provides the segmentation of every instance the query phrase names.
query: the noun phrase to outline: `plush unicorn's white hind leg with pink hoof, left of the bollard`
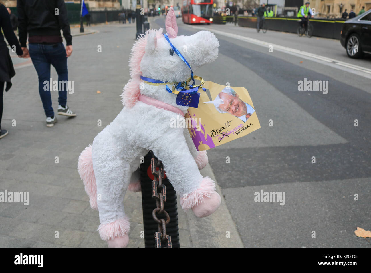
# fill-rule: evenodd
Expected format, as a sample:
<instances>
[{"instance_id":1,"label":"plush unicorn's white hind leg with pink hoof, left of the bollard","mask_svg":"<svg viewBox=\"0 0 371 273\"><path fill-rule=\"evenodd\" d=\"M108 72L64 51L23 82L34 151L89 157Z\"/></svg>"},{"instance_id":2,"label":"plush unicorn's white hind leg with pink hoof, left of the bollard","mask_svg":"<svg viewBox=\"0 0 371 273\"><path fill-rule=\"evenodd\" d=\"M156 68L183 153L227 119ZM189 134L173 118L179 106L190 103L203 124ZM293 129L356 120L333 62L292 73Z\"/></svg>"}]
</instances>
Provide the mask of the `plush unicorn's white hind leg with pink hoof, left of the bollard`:
<instances>
[{"instance_id":1,"label":"plush unicorn's white hind leg with pink hoof, left of the bollard","mask_svg":"<svg viewBox=\"0 0 371 273\"><path fill-rule=\"evenodd\" d=\"M116 145L93 143L93 169L101 222L98 231L109 247L126 247L130 223L125 215L123 201L130 182L131 169L122 157L122 149Z\"/></svg>"}]
</instances>

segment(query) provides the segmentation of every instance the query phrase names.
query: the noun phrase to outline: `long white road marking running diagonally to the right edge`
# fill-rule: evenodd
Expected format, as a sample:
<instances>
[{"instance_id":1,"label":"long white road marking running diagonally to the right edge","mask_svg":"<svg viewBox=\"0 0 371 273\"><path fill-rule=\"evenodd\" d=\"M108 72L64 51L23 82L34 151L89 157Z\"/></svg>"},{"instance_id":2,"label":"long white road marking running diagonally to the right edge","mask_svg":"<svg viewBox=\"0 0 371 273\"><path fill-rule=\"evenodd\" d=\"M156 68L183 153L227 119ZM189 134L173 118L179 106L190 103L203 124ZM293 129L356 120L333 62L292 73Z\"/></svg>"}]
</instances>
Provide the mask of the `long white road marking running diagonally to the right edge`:
<instances>
[{"instance_id":1,"label":"long white road marking running diagonally to the right edge","mask_svg":"<svg viewBox=\"0 0 371 273\"><path fill-rule=\"evenodd\" d=\"M331 59L331 58L328 58L328 57L325 57L325 56L317 55L317 54L306 52L306 51L301 51L301 50L294 49L294 48L288 48L286 46L280 46L280 45L276 45L276 44L273 44L273 43L264 42L262 40L258 40L258 39L254 39L254 38L244 37L244 36L241 36L241 35L228 33L228 32L224 32L224 31L220 31L220 30L209 29L207 27L201 27L201 26L190 26L190 27L193 27L195 29L209 30L209 31L211 31L213 33L216 33L216 34L220 34L220 35L227 36L227 37L230 37L230 38L234 38L234 39L237 39L237 40L241 40L241 41L244 41L244 42L253 43L255 45L265 46L267 48L269 48L269 46L273 46L274 50L284 52L284 53L288 53L290 55L298 56L298 57L301 57L301 58L304 58L304 59L308 59L310 61L318 62L320 64L328 65L328 66L331 66L331 67L334 67L334 68L337 68L337 69L341 69L343 71L347 71L347 72L356 74L358 76L362 76L362 77L371 79L371 69L369 69L369 68L349 64L347 62L338 61L338 60Z\"/></svg>"}]
</instances>

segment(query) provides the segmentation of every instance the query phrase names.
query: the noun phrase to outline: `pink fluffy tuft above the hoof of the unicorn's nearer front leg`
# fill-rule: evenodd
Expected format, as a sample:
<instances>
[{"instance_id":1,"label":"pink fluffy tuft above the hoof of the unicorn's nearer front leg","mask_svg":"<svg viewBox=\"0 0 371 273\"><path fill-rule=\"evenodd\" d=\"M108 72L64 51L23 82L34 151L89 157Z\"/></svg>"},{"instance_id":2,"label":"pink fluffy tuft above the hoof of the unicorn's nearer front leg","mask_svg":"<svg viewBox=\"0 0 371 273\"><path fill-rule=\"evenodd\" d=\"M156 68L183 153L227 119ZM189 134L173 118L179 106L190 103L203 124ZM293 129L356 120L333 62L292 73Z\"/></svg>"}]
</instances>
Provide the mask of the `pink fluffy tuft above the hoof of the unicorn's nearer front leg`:
<instances>
[{"instance_id":1,"label":"pink fluffy tuft above the hoof of the unicorn's nearer front leg","mask_svg":"<svg viewBox=\"0 0 371 273\"><path fill-rule=\"evenodd\" d=\"M215 182L209 178L209 176L204 177L200 183L200 188L188 194L187 200L184 200L184 197L180 198L181 207L184 209L184 211L187 211L199 203L202 203L204 201L204 196L210 197L215 191L215 188Z\"/></svg>"}]
</instances>

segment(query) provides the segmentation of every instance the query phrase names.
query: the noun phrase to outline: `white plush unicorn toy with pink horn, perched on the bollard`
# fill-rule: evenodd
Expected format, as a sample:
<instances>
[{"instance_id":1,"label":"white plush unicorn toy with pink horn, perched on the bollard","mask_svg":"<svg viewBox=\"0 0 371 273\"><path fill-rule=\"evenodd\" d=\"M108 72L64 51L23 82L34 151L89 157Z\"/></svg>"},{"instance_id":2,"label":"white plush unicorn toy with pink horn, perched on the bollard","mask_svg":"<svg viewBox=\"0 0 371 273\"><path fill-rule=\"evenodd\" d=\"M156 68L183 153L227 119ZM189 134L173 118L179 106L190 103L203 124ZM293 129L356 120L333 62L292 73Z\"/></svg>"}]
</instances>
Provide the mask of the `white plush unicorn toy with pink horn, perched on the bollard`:
<instances>
[{"instance_id":1,"label":"white plush unicorn toy with pink horn, perched on the bollard","mask_svg":"<svg viewBox=\"0 0 371 273\"><path fill-rule=\"evenodd\" d=\"M170 126L177 115L184 118L188 106L177 105L176 95L165 90L166 84L190 77L178 52L196 69L215 61L219 42L205 30L177 37L173 8L165 26L167 34L148 30L135 42L129 59L131 79L122 92L125 107L79 157L78 171L91 207L99 211L99 234L109 247L128 245L124 196L127 189L140 191L140 158L150 150L163 163L185 211L206 217L220 205L214 181L199 171L208 162L206 152L196 150L187 128Z\"/></svg>"}]
</instances>

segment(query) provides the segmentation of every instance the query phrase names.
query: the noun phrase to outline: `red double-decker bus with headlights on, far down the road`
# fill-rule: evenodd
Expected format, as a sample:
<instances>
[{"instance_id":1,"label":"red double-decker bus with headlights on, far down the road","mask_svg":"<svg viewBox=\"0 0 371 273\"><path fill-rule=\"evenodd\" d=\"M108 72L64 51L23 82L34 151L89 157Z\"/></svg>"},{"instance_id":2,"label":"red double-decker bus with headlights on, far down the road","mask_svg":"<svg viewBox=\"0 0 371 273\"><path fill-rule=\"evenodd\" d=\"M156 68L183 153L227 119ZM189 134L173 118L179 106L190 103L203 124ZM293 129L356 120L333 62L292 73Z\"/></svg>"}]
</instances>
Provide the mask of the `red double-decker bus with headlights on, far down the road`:
<instances>
[{"instance_id":1,"label":"red double-decker bus with headlights on, far down the road","mask_svg":"<svg viewBox=\"0 0 371 273\"><path fill-rule=\"evenodd\" d=\"M213 22L213 0L183 0L182 21L186 24Z\"/></svg>"}]
</instances>

